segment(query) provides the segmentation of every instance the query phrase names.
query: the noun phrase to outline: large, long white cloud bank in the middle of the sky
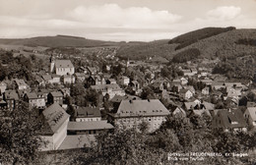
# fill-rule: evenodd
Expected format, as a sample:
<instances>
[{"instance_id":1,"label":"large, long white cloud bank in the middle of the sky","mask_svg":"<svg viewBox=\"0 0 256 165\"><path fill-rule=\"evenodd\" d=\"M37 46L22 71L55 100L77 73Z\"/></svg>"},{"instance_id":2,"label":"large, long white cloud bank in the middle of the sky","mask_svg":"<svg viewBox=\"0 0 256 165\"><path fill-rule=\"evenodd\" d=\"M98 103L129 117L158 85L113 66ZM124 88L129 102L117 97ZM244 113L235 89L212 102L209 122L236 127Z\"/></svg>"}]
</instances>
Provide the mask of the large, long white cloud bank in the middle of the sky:
<instances>
[{"instance_id":1,"label":"large, long white cloud bank in the middle of the sky","mask_svg":"<svg viewBox=\"0 0 256 165\"><path fill-rule=\"evenodd\" d=\"M121 8L117 4L79 6L69 16L88 27L160 28L170 27L181 19L168 11L152 11L146 7Z\"/></svg>"}]
</instances>

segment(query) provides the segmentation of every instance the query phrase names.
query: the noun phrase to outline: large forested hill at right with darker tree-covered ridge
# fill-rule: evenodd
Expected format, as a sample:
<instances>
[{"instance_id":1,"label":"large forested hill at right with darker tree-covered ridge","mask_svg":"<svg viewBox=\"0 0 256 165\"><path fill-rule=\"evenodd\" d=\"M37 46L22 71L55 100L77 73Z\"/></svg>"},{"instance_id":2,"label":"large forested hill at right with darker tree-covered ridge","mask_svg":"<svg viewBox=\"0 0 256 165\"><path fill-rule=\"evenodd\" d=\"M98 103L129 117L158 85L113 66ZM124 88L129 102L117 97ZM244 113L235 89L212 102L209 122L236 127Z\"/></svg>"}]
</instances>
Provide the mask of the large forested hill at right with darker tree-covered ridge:
<instances>
[{"instance_id":1,"label":"large forested hill at right with darker tree-covered ridge","mask_svg":"<svg viewBox=\"0 0 256 165\"><path fill-rule=\"evenodd\" d=\"M117 54L130 59L161 56L172 60L174 57L174 62L185 62L186 59L193 58L231 58L256 55L255 40L256 29L208 27L182 34L171 40L124 44Z\"/></svg>"}]
</instances>

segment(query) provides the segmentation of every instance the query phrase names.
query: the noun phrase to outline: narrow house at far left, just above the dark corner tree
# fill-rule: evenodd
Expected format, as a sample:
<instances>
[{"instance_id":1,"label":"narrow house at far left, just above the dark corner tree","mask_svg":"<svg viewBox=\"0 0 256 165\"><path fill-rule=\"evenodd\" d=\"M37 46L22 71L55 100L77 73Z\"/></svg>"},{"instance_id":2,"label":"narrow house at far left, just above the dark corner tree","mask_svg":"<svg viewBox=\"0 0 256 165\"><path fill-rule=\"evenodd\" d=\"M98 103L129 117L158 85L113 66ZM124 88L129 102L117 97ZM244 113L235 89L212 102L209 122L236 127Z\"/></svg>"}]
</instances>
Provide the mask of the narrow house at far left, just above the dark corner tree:
<instances>
[{"instance_id":1,"label":"narrow house at far left, just above the dark corner tree","mask_svg":"<svg viewBox=\"0 0 256 165\"><path fill-rule=\"evenodd\" d=\"M15 90L6 90L4 94L4 100L8 105L8 109L17 109L19 105L19 95Z\"/></svg>"}]
</instances>

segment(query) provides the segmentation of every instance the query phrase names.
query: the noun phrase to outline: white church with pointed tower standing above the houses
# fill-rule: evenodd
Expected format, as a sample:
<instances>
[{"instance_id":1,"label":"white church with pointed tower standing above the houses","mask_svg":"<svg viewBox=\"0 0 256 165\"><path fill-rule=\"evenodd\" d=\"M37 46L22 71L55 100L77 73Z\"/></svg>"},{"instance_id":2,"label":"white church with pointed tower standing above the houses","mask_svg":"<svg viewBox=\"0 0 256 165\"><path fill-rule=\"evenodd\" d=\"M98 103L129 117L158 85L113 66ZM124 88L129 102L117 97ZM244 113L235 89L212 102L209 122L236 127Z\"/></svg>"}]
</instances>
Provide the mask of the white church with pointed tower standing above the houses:
<instances>
[{"instance_id":1,"label":"white church with pointed tower standing above the houses","mask_svg":"<svg viewBox=\"0 0 256 165\"><path fill-rule=\"evenodd\" d=\"M51 60L50 71L59 76L73 75L75 67L70 60Z\"/></svg>"}]
</instances>

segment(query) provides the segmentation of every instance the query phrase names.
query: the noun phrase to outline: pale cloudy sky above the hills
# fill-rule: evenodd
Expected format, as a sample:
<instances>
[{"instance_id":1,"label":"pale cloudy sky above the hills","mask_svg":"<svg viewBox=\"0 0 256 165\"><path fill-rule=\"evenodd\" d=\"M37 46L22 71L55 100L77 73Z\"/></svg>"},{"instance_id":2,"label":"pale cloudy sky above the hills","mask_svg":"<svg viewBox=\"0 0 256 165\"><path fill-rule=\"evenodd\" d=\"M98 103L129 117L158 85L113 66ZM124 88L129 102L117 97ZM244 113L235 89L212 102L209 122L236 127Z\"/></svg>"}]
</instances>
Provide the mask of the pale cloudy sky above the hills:
<instances>
[{"instance_id":1,"label":"pale cloudy sky above the hills","mask_svg":"<svg viewBox=\"0 0 256 165\"><path fill-rule=\"evenodd\" d=\"M170 39L203 27L256 27L256 0L0 0L0 37Z\"/></svg>"}]
</instances>

